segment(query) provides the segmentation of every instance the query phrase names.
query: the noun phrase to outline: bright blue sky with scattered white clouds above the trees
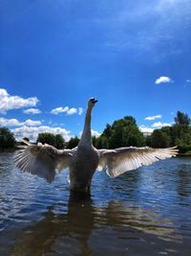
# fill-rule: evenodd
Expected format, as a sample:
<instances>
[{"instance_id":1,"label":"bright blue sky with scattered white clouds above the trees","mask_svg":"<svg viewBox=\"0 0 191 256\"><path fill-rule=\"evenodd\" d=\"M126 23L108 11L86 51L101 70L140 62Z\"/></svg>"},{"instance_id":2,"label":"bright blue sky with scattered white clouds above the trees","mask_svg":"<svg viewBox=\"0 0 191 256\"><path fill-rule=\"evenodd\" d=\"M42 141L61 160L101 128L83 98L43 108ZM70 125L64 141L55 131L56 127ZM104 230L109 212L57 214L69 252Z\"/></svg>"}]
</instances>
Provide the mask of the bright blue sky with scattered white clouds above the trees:
<instances>
[{"instance_id":1,"label":"bright blue sky with scattered white clouds above the trees","mask_svg":"<svg viewBox=\"0 0 191 256\"><path fill-rule=\"evenodd\" d=\"M0 10L0 126L18 139L79 135L92 96L96 135L125 115L142 130L191 115L191 0L1 0Z\"/></svg>"}]
</instances>

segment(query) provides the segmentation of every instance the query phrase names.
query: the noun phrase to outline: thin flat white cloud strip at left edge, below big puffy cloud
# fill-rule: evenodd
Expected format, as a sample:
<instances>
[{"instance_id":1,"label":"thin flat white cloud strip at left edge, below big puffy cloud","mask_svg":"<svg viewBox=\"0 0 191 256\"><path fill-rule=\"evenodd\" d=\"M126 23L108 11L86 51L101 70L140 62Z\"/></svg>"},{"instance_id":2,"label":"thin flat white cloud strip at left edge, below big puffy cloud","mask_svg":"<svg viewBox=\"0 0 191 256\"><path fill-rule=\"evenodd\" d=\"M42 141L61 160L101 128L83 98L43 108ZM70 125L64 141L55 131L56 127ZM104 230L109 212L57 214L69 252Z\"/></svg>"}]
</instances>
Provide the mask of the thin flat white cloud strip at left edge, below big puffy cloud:
<instances>
[{"instance_id":1,"label":"thin flat white cloud strip at left edge, below big puffy cloud","mask_svg":"<svg viewBox=\"0 0 191 256\"><path fill-rule=\"evenodd\" d=\"M7 119L4 117L0 117L0 126L5 127L21 127L21 126L40 126L41 121L33 121L31 119L26 120L25 122L19 122L17 119Z\"/></svg>"}]
</instances>

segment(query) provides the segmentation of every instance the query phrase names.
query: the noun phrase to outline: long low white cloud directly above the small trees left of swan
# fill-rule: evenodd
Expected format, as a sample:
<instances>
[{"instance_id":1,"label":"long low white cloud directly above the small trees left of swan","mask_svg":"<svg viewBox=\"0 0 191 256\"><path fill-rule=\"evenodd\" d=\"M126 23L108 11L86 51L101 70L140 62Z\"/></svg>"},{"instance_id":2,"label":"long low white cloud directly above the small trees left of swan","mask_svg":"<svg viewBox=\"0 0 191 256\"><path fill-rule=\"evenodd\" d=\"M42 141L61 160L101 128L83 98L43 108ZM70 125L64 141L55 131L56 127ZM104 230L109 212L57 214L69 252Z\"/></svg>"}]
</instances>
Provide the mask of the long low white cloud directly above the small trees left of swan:
<instances>
[{"instance_id":1,"label":"long low white cloud directly above the small trees left of swan","mask_svg":"<svg viewBox=\"0 0 191 256\"><path fill-rule=\"evenodd\" d=\"M21 128L13 128L11 129L11 131L13 132L15 138L18 141L21 141L22 138L27 137L32 142L35 142L38 137L38 133L41 133L41 132L51 132L53 134L60 134L62 135L62 137L65 139L66 142L69 141L70 138L72 137L70 135L70 132L71 132L70 130L67 130L65 128L52 128L48 126L41 126L41 127L23 126Z\"/></svg>"}]
</instances>

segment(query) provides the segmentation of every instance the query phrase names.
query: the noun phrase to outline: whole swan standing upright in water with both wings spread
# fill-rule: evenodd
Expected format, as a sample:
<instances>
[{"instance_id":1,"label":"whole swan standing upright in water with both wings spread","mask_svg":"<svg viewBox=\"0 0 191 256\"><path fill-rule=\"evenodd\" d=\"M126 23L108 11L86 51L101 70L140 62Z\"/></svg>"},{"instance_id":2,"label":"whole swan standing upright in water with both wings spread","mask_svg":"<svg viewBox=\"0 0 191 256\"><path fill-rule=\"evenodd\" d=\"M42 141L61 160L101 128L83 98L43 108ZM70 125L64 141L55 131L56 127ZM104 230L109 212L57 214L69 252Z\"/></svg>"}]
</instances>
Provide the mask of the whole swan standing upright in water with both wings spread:
<instances>
[{"instance_id":1,"label":"whole swan standing upright in water with both wings spread","mask_svg":"<svg viewBox=\"0 0 191 256\"><path fill-rule=\"evenodd\" d=\"M53 146L41 143L32 145L14 156L17 168L32 175L45 178L48 182L54 179L55 171L69 169L71 191L90 192L92 177L96 170L106 170L107 175L117 177L127 171L150 165L160 159L176 156L176 147L153 149L149 147L125 147L115 150L96 150L92 144L91 119L96 105L95 98L88 102L84 128L78 146L72 150L57 150Z\"/></svg>"}]
</instances>

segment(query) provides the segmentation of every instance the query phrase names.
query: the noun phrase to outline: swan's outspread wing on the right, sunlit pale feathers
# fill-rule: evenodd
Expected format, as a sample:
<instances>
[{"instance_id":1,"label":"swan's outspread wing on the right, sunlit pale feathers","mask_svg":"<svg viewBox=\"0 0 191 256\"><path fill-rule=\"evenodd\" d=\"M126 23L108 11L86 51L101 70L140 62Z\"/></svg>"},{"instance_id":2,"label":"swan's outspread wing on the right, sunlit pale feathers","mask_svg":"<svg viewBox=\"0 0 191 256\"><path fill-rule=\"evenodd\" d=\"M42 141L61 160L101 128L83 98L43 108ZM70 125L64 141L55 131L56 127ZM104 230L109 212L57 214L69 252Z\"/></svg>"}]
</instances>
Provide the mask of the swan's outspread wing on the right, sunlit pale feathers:
<instances>
[{"instance_id":1,"label":"swan's outspread wing on the right, sunlit pale feathers","mask_svg":"<svg viewBox=\"0 0 191 256\"><path fill-rule=\"evenodd\" d=\"M142 165L150 165L160 159L170 158L178 153L176 147L167 149L144 148L119 148L116 150L98 150L98 171L107 169L107 174L112 177L127 171L138 169Z\"/></svg>"}]
</instances>

